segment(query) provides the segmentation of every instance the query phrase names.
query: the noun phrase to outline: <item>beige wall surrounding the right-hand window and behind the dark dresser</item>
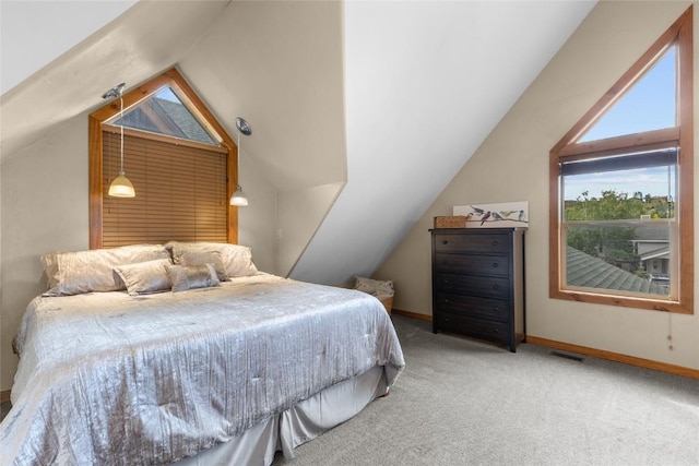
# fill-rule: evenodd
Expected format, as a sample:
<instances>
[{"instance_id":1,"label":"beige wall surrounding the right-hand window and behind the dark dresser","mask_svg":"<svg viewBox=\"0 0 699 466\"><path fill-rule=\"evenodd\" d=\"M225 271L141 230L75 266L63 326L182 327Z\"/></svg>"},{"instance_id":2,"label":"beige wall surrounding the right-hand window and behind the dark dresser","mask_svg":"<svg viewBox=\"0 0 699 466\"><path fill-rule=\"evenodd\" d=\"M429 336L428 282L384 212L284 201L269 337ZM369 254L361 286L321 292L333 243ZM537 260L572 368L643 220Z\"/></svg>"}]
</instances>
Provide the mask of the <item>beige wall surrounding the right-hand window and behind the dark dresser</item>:
<instances>
[{"instance_id":1,"label":"beige wall surrounding the right-hand window and behind the dark dresser","mask_svg":"<svg viewBox=\"0 0 699 466\"><path fill-rule=\"evenodd\" d=\"M431 313L428 229L434 216L450 215L458 204L529 201L530 335L699 369L699 313L668 314L548 298L549 150L689 4L604 1L595 7L377 271L377 277L395 280L396 309ZM695 24L698 11L695 5ZM695 88L699 88L698 39L695 32ZM698 109L695 101L695 113ZM695 147L699 145L695 143ZM699 180L699 164L695 164L695 180ZM695 228L695 235L699 242L699 229ZM695 277L699 277L697 272ZM695 284L695 296L699 296L698 288ZM673 335L673 350L668 348L668 333Z\"/></svg>"}]
</instances>

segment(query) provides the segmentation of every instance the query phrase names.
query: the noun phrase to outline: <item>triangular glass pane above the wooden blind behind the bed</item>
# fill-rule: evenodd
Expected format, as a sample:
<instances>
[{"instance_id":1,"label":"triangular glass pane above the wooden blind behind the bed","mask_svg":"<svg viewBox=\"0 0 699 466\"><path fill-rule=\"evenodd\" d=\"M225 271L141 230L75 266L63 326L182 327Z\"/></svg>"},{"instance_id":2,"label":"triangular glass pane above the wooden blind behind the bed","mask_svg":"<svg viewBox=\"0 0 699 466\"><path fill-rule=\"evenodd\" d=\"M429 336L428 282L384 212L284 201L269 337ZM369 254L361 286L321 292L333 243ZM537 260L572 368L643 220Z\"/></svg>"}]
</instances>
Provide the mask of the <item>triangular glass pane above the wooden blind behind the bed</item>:
<instances>
[{"instance_id":1,"label":"triangular glass pane above the wooden blind behind the bed","mask_svg":"<svg viewBox=\"0 0 699 466\"><path fill-rule=\"evenodd\" d=\"M168 85L127 109L123 118L116 116L107 123L221 146L221 136L208 129L204 121L187 97L176 86Z\"/></svg>"}]
</instances>

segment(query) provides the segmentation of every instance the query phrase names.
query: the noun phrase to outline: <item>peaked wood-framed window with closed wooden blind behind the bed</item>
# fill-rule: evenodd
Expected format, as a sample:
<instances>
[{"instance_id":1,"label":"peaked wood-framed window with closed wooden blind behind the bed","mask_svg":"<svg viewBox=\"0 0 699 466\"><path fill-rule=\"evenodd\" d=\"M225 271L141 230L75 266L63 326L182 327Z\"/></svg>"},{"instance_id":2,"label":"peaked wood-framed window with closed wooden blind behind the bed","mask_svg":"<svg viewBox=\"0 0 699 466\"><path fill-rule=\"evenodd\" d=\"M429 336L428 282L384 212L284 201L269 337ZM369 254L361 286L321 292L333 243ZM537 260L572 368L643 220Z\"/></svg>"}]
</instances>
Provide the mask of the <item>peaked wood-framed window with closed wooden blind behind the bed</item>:
<instances>
[{"instance_id":1,"label":"peaked wood-framed window with closed wooden blind behind the bed","mask_svg":"<svg viewBox=\"0 0 699 466\"><path fill-rule=\"evenodd\" d=\"M91 248L236 242L237 207L228 199L237 147L187 82L170 70L123 101L123 115L116 99L90 117ZM121 140L135 198L107 193L120 171Z\"/></svg>"}]
</instances>

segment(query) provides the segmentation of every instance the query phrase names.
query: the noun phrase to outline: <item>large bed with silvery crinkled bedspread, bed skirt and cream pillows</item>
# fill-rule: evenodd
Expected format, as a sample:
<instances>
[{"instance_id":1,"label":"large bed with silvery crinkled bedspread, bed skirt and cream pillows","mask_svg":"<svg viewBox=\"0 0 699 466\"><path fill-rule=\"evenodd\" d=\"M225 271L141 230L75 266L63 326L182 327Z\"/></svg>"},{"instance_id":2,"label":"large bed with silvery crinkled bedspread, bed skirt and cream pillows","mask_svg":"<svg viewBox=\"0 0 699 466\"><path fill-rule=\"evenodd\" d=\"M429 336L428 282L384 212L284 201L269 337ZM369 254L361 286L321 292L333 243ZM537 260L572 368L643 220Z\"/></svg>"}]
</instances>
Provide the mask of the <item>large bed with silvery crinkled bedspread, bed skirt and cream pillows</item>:
<instances>
[{"instance_id":1,"label":"large bed with silvery crinkled bedspread, bed skirt and cream pillows","mask_svg":"<svg viewBox=\"0 0 699 466\"><path fill-rule=\"evenodd\" d=\"M16 465L269 465L404 367L378 299L259 272L245 247L42 259L51 288L23 316L0 423Z\"/></svg>"}]
</instances>

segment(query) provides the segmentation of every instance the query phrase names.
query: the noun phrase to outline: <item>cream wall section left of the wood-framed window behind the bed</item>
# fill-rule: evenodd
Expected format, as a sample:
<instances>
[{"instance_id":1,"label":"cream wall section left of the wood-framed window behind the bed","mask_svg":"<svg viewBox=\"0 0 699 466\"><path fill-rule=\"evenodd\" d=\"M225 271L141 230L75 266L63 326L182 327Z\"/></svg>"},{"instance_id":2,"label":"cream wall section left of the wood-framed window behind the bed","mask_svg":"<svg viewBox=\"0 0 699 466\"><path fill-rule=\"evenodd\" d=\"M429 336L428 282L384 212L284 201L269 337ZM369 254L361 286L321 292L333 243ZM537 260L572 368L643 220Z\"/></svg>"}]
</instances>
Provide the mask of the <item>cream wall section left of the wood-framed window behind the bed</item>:
<instances>
[{"instance_id":1,"label":"cream wall section left of the wood-framed window behind the bed","mask_svg":"<svg viewBox=\"0 0 699 466\"><path fill-rule=\"evenodd\" d=\"M2 165L2 390L16 368L11 342L22 313L46 289L39 255L90 242L86 119L70 121Z\"/></svg>"}]
</instances>

